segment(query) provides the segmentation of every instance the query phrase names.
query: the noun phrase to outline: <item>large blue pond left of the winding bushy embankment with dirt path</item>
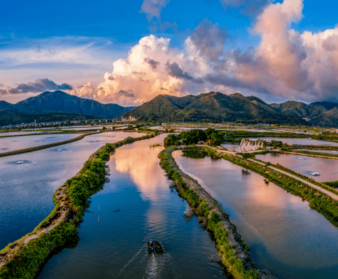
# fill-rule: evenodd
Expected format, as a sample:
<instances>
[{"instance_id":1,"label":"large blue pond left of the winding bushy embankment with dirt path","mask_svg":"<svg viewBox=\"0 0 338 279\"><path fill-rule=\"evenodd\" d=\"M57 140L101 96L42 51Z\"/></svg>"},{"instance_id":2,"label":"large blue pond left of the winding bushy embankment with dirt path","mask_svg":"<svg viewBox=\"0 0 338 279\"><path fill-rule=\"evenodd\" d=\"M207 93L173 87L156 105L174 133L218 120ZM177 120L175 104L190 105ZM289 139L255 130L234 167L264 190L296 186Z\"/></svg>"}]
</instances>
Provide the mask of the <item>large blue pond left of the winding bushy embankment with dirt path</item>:
<instances>
[{"instance_id":1,"label":"large blue pond left of the winding bushy embankment with dirt path","mask_svg":"<svg viewBox=\"0 0 338 279\"><path fill-rule=\"evenodd\" d=\"M0 249L31 232L49 215L54 208L55 190L76 175L98 148L106 142L142 135L106 132L72 143L1 157Z\"/></svg>"}]
</instances>

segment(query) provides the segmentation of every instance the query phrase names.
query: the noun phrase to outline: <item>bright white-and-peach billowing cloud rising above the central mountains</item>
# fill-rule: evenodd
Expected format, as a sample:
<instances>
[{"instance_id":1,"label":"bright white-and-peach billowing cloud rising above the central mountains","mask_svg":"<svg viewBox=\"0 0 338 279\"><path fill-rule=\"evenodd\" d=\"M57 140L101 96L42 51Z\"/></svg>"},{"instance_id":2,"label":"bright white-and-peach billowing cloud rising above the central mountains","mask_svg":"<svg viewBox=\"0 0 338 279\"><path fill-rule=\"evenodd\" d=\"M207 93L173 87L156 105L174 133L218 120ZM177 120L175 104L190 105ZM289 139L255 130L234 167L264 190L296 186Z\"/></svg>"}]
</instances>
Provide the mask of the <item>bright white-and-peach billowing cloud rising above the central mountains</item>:
<instances>
[{"instance_id":1,"label":"bright white-and-peach billowing cloud rising above the central mountains","mask_svg":"<svg viewBox=\"0 0 338 279\"><path fill-rule=\"evenodd\" d=\"M96 100L135 106L161 92L186 95L203 83L201 64L193 56L171 47L170 39L153 35L142 38L126 59L113 66L113 72L107 72L105 82L94 91Z\"/></svg>"}]
</instances>

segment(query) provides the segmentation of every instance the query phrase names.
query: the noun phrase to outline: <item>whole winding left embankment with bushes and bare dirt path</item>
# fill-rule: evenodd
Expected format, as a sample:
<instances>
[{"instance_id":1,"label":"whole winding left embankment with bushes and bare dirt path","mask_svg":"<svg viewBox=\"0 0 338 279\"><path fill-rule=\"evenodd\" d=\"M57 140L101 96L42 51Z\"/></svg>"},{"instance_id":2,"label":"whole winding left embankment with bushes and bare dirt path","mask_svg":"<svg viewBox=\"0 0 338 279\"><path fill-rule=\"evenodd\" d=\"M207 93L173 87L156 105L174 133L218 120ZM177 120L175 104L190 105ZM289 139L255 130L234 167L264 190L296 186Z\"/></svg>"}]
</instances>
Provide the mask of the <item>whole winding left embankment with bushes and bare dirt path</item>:
<instances>
[{"instance_id":1,"label":"whole winding left embankment with bushes and bare dirt path","mask_svg":"<svg viewBox=\"0 0 338 279\"><path fill-rule=\"evenodd\" d=\"M56 248L78 241L77 226L84 205L92 194L102 189L107 180L106 161L123 144L155 136L127 137L99 148L73 178L53 194L55 208L33 232L10 243L0 251L1 279L32 279L46 257Z\"/></svg>"}]
</instances>

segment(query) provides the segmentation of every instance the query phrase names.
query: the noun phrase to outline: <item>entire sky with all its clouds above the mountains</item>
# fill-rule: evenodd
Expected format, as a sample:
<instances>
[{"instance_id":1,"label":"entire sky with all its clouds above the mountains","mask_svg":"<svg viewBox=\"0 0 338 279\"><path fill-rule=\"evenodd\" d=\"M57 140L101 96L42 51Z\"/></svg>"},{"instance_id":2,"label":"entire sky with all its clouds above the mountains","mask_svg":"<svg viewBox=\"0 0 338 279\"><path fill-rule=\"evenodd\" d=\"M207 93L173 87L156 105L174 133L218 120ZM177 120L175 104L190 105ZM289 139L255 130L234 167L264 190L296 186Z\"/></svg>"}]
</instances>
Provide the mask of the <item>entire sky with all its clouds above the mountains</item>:
<instances>
[{"instance_id":1,"label":"entire sky with all its clouds above the mountains","mask_svg":"<svg viewBox=\"0 0 338 279\"><path fill-rule=\"evenodd\" d=\"M338 101L337 8L332 0L8 1L0 100L64 88L121 105L206 91Z\"/></svg>"}]
</instances>

